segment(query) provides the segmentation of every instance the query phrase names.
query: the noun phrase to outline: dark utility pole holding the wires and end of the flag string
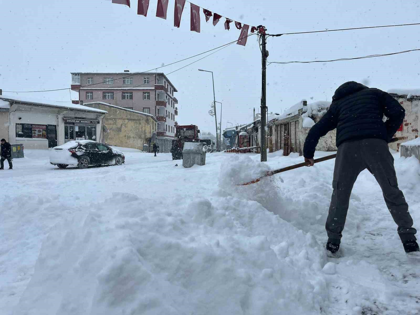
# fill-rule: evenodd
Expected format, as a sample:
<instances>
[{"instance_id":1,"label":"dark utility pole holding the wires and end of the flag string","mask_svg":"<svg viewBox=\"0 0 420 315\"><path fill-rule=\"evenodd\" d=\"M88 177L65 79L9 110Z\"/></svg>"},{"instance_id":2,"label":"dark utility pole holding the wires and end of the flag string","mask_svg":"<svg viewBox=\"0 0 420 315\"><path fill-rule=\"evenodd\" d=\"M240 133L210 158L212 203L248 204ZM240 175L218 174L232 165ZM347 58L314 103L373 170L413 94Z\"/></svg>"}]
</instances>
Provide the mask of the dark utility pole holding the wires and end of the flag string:
<instances>
[{"instance_id":1,"label":"dark utility pole holding the wires and end of the flag string","mask_svg":"<svg viewBox=\"0 0 420 315\"><path fill-rule=\"evenodd\" d=\"M264 26L258 26L261 36L261 52L262 52L262 80L261 80L261 162L267 162L267 138L265 135L265 128L267 125L266 113L267 106L265 102L265 84L266 84L266 66L268 51L265 47L265 31L267 30Z\"/></svg>"}]
</instances>

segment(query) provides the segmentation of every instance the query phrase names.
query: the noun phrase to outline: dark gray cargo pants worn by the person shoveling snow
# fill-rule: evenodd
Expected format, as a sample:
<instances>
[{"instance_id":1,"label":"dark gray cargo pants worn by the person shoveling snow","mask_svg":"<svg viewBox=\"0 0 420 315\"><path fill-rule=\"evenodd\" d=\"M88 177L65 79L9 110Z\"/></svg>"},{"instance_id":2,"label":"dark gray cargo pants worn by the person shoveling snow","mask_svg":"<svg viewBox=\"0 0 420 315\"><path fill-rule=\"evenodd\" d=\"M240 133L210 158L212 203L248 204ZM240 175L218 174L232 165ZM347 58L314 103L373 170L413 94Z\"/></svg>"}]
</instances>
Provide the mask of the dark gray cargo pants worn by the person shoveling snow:
<instances>
[{"instance_id":1,"label":"dark gray cargo pants worn by the person shoveling snow","mask_svg":"<svg viewBox=\"0 0 420 315\"><path fill-rule=\"evenodd\" d=\"M397 224L401 241L415 240L416 229L408 212L404 194L398 188L394 158L386 141L362 139L340 144L334 167L333 194L325 229L328 241L340 244L346 223L347 209L353 184L361 171L367 168L383 192L386 206Z\"/></svg>"}]
</instances>

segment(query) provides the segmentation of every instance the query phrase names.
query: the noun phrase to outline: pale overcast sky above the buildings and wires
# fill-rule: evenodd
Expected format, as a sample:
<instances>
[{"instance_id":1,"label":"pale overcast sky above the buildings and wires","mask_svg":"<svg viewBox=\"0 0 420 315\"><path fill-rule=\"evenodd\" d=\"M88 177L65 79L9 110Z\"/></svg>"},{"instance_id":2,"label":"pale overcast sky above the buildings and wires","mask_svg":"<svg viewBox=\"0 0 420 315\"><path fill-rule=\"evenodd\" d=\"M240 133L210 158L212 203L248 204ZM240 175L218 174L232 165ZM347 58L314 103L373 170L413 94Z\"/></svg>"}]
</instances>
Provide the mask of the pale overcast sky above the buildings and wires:
<instances>
[{"instance_id":1,"label":"pale overcast sky above the buildings and wires","mask_svg":"<svg viewBox=\"0 0 420 315\"><path fill-rule=\"evenodd\" d=\"M201 33L189 31L189 3L181 27L173 27L174 0L168 19L155 17L157 0L150 0L147 17L110 0L0 0L0 88L4 91L59 89L71 84L70 72L147 71L163 64L218 47L239 37L239 30L205 23ZM306 0L196 0L210 11L245 24L267 27L268 33L408 24L420 22L418 0L306 1ZM420 26L345 32L283 35L270 38L268 61L328 60L393 53L420 48ZM198 59L193 58L158 71L169 73ZM420 52L364 60L312 64L271 64L267 67L267 106L281 112L302 99L331 100L345 81L360 81L383 90L419 88ZM223 102L222 128L227 121L252 121L260 111L261 53L257 37L246 47L230 45L203 60L168 75L178 89L180 124L197 124L215 131L208 115L213 100ZM3 93L6 94L6 93ZM7 93L10 95L10 93ZM29 95L29 94L24 94ZM70 92L33 93L37 98L70 102ZM77 99L72 92L71 97ZM218 104L218 121L220 104Z\"/></svg>"}]
</instances>

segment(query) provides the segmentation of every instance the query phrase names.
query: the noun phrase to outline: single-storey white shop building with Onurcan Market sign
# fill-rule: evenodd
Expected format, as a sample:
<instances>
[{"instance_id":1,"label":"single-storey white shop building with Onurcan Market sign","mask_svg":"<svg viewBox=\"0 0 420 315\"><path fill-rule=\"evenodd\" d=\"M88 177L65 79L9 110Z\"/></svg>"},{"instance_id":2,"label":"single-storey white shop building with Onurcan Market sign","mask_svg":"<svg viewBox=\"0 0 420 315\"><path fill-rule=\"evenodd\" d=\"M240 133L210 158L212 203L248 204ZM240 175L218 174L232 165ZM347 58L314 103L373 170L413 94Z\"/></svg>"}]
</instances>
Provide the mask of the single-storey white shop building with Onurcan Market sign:
<instances>
[{"instance_id":1,"label":"single-storey white shop building with Onurcan Market sign","mask_svg":"<svg viewBox=\"0 0 420 315\"><path fill-rule=\"evenodd\" d=\"M0 136L8 138L10 143L21 143L28 149L48 149L71 140L100 142L105 110L5 95L0 96L0 100L3 100L0 125L8 126L8 137Z\"/></svg>"}]
</instances>

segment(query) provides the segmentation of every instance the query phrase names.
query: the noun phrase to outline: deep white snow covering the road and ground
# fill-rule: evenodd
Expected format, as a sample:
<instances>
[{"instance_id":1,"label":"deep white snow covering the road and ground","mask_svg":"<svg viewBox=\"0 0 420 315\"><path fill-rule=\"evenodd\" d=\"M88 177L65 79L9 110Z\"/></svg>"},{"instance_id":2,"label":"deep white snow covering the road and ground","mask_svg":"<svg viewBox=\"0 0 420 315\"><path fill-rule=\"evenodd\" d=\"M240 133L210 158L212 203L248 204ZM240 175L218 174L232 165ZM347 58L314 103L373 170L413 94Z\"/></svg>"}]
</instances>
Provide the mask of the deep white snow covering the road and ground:
<instances>
[{"instance_id":1,"label":"deep white snow covering the road and ground","mask_svg":"<svg viewBox=\"0 0 420 315\"><path fill-rule=\"evenodd\" d=\"M126 152L125 165L86 170L25 155L0 173L0 314L420 314L420 263L367 171L333 259L334 160L232 186L259 155L207 154L186 169ZM394 158L420 228L419 162ZM267 164L302 161L276 152Z\"/></svg>"}]
</instances>

